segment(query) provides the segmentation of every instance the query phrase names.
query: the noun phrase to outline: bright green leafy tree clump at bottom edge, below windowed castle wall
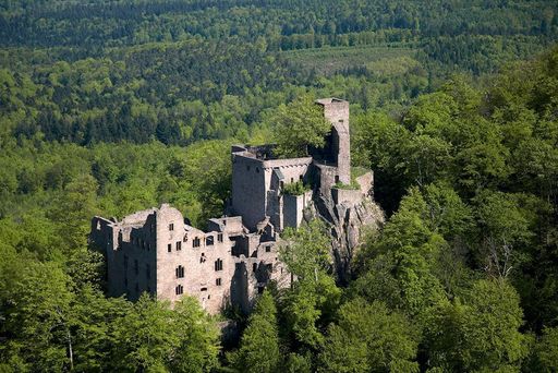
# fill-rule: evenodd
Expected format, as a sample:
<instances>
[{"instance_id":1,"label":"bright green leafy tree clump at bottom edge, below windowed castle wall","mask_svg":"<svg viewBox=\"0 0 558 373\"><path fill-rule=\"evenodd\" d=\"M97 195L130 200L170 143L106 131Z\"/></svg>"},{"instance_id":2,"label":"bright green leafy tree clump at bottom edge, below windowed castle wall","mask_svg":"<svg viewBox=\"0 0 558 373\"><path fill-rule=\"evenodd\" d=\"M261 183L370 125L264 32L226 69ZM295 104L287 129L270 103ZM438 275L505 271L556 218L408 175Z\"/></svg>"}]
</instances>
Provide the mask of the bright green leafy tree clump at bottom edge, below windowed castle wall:
<instances>
[{"instance_id":1,"label":"bright green leafy tree clump at bottom edge, below windowed castle wall","mask_svg":"<svg viewBox=\"0 0 558 373\"><path fill-rule=\"evenodd\" d=\"M172 311L168 303L142 296L113 326L114 369L209 372L216 366L217 328L195 300L181 303Z\"/></svg>"}]
</instances>

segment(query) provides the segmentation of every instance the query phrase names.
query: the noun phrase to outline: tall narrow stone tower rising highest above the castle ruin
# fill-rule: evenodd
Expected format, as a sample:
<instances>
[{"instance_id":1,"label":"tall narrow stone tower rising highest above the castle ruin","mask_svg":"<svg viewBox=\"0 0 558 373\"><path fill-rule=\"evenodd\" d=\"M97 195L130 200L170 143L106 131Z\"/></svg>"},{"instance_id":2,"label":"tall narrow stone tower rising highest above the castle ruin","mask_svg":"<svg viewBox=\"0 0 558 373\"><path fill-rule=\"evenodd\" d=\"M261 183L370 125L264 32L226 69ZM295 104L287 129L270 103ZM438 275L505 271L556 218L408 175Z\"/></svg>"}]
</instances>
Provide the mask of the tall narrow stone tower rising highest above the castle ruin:
<instances>
[{"instance_id":1,"label":"tall narrow stone tower rising highest above the castle ruin","mask_svg":"<svg viewBox=\"0 0 558 373\"><path fill-rule=\"evenodd\" d=\"M324 108L324 117L331 122L331 152L337 163L339 181L351 183L351 135L349 132L349 101L339 98L320 98L316 104Z\"/></svg>"}]
</instances>

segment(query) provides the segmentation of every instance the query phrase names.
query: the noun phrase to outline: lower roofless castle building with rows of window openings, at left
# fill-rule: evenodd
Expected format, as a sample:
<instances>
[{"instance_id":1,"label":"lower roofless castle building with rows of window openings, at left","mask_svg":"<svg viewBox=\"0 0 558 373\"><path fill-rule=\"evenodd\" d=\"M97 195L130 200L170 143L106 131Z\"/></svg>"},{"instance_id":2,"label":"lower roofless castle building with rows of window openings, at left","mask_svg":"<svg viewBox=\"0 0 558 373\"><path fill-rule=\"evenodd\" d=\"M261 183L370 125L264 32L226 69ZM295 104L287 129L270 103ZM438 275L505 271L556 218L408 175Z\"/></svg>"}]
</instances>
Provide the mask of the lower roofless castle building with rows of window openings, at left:
<instances>
[{"instance_id":1,"label":"lower roofless castle building with rows of window openings, at left","mask_svg":"<svg viewBox=\"0 0 558 373\"><path fill-rule=\"evenodd\" d=\"M204 232L163 204L121 221L95 217L90 242L107 255L109 296L130 300L190 294L210 313L228 303L247 310L268 280L290 279L277 260L276 233L250 233L240 217L210 219Z\"/></svg>"}]
</instances>

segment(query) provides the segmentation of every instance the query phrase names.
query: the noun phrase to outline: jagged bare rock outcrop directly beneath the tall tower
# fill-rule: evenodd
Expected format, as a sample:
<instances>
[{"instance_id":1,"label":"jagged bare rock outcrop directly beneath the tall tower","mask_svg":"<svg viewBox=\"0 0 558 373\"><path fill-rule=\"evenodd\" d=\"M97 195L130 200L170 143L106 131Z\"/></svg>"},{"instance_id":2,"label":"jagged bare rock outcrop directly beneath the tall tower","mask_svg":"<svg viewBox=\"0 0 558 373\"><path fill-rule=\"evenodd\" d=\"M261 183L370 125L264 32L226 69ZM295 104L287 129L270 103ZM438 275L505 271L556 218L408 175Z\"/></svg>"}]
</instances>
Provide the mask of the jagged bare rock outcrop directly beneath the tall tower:
<instances>
[{"instance_id":1,"label":"jagged bare rock outcrop directly beneath the tall tower","mask_svg":"<svg viewBox=\"0 0 558 373\"><path fill-rule=\"evenodd\" d=\"M340 284L347 284L351 277L351 262L362 244L363 232L378 229L385 220L384 212L372 196L372 172L356 181L360 190L332 188L330 193L317 191L304 214L306 221L318 217L327 224Z\"/></svg>"}]
</instances>

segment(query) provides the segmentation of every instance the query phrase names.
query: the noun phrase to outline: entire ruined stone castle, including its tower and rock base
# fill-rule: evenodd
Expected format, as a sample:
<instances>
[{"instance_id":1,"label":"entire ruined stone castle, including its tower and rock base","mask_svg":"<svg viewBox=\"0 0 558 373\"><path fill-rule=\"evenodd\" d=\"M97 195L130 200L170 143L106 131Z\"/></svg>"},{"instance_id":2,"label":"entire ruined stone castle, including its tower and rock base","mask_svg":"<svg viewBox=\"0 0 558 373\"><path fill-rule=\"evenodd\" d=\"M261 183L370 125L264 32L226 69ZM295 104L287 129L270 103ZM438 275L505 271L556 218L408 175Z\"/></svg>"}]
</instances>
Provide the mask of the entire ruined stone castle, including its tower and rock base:
<instances>
[{"instance_id":1,"label":"entire ruined stone castle, including its tower and rock base","mask_svg":"<svg viewBox=\"0 0 558 373\"><path fill-rule=\"evenodd\" d=\"M120 221L93 218L89 241L106 255L109 296L136 300L147 292L173 302L190 294L210 313L227 304L247 311L270 280L290 285L278 260L280 233L313 218L329 226L342 281L361 228L379 224L383 214L372 200L372 171L351 179L349 103L324 98L316 105L331 133L326 146L307 157L276 158L272 145L232 146L232 197L223 217L209 219L207 231L167 204ZM286 193L286 185L299 181L306 191Z\"/></svg>"}]
</instances>

